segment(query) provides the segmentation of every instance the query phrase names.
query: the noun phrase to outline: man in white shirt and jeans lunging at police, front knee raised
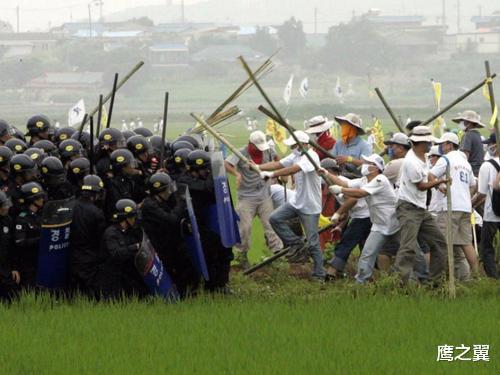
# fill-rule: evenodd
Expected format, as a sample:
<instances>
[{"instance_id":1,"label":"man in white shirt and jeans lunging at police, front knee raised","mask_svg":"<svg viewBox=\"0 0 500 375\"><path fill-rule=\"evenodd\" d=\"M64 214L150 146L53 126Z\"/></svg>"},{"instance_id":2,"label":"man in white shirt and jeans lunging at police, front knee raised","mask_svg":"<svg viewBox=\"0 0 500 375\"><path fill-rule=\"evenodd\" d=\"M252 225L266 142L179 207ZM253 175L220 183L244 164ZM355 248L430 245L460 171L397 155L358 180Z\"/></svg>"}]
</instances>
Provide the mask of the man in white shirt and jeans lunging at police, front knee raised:
<instances>
[{"instance_id":1,"label":"man in white shirt and jeans lunging at police, front knee raised","mask_svg":"<svg viewBox=\"0 0 500 375\"><path fill-rule=\"evenodd\" d=\"M295 140L298 140L299 144ZM321 213L321 178L316 173L314 165L308 156L301 154L301 147L306 150L309 157L319 165L319 157L314 150L309 149L309 135L298 130L294 137L284 143L291 147L292 154L277 162L260 165L263 179L294 176L295 194L288 202L276 209L269 219L274 231L283 241L285 247L290 248L289 254L294 256L304 249L309 253L314 262L312 276L324 280L323 255L319 245L318 220ZM288 221L299 217L307 237L307 247L302 239L290 228Z\"/></svg>"}]
</instances>

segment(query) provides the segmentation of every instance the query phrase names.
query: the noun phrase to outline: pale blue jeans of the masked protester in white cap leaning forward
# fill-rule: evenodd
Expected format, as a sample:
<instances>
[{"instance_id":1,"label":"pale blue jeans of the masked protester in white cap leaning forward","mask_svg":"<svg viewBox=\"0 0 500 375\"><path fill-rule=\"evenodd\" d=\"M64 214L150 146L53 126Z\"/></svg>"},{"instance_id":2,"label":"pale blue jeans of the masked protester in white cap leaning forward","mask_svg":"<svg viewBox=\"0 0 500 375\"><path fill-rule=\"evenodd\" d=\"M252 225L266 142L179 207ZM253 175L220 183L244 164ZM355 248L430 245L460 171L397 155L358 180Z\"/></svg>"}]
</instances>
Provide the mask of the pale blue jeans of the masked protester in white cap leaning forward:
<instances>
[{"instance_id":1,"label":"pale blue jeans of the masked protester in white cap leaning forward","mask_svg":"<svg viewBox=\"0 0 500 375\"><path fill-rule=\"evenodd\" d=\"M378 253L388 241L399 242L399 231L391 235L370 232L358 261L358 273L355 276L358 283L365 283L372 277Z\"/></svg>"}]
</instances>

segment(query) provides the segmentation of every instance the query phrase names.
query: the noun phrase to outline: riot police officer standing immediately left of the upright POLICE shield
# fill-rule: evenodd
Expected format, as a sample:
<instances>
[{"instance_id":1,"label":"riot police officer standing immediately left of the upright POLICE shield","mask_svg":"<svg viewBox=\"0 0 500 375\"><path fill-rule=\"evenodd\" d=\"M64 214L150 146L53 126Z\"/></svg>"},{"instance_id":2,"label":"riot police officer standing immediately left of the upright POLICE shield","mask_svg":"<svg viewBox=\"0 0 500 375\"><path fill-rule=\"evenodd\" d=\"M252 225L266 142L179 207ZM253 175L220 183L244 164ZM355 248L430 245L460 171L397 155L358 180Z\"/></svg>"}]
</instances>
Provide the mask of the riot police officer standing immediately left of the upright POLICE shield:
<instances>
[{"instance_id":1,"label":"riot police officer standing immediately left of the upright POLICE shield","mask_svg":"<svg viewBox=\"0 0 500 375\"><path fill-rule=\"evenodd\" d=\"M36 284L38 246L42 225L45 192L37 182L21 186L21 211L14 220L15 258L21 274L21 285L33 288Z\"/></svg>"}]
</instances>

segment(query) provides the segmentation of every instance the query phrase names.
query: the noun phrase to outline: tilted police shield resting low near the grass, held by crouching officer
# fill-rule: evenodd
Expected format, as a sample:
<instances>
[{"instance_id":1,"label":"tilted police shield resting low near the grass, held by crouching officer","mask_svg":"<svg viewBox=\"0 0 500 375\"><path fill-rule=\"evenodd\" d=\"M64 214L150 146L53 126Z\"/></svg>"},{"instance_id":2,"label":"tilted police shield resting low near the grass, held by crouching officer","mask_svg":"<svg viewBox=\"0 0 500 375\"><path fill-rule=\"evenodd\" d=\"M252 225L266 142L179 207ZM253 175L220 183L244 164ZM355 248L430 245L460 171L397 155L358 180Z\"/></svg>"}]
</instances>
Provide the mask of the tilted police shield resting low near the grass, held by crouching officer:
<instances>
[{"instance_id":1,"label":"tilted police shield resting low near the grass, held by crouching officer","mask_svg":"<svg viewBox=\"0 0 500 375\"><path fill-rule=\"evenodd\" d=\"M179 298L177 289L175 288L170 275L167 273L158 254L156 254L151 241L146 233L143 232L141 248L137 252L135 259L135 267L144 278L144 283L148 286L151 294L162 296L169 300Z\"/></svg>"}]
</instances>

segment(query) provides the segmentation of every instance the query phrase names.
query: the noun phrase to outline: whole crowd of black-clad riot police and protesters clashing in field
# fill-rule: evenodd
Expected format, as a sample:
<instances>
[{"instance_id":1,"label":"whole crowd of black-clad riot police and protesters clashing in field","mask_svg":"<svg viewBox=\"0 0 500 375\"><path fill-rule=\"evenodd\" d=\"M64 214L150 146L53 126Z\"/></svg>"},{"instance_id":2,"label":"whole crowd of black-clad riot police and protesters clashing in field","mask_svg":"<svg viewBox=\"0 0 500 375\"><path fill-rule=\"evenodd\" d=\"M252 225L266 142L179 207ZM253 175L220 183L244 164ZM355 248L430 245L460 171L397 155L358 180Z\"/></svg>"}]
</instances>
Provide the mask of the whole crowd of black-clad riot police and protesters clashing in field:
<instances>
[{"instance_id":1,"label":"whole crowd of black-clad riot police and protesters clashing in field","mask_svg":"<svg viewBox=\"0 0 500 375\"><path fill-rule=\"evenodd\" d=\"M439 283L450 240L459 280L479 274L480 261L486 276L497 278L500 150L494 133L482 140L485 126L477 113L453 119L461 137L445 132L436 139L429 127L412 121L408 134L392 134L381 154L362 138L360 116L335 121L339 139L330 133L333 121L316 116L284 141L288 156L280 158L257 130L240 150L246 159L226 158L225 169L236 179L240 267L249 266L258 216L268 249L287 249L290 263L311 259L311 278L320 282L346 277L349 256L359 247L357 283L373 280L375 269L395 272L403 283ZM1 298L40 289L44 207L61 200L74 204L65 292L91 298L149 294L135 264L147 236L180 296L199 288L230 293L233 249L206 214L216 200L208 144L198 135L164 142L143 127L106 128L92 139L70 127L54 129L42 115L28 120L24 134L0 120ZM204 282L188 250L193 226L186 191L209 275ZM321 216L333 224L322 234ZM333 258L325 263L330 243Z\"/></svg>"}]
</instances>

